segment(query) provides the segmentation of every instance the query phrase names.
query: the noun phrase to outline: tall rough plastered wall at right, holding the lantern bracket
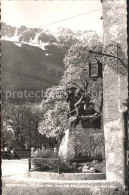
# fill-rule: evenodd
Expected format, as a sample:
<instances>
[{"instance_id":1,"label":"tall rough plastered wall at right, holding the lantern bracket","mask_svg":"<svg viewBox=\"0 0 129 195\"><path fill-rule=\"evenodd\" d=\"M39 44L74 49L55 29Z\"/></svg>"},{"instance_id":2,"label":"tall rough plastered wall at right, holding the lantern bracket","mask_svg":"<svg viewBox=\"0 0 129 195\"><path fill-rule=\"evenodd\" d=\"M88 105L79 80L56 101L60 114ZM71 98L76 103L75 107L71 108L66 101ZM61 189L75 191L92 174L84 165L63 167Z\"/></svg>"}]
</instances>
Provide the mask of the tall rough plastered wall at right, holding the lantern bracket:
<instances>
[{"instance_id":1,"label":"tall rough plastered wall at right, holding the lantern bracket","mask_svg":"<svg viewBox=\"0 0 129 195\"><path fill-rule=\"evenodd\" d=\"M114 41L121 46L119 54L115 49L116 46L105 52L118 55L127 66L125 62L125 58L127 58L126 1L103 0L102 5L105 48ZM124 58L121 54L124 55ZM104 59L103 73L106 177L107 180L118 181L125 186L127 170L124 147L126 139L124 113L127 107L123 103L125 103L128 93L127 67L121 69L124 65L119 60L107 58Z\"/></svg>"}]
</instances>

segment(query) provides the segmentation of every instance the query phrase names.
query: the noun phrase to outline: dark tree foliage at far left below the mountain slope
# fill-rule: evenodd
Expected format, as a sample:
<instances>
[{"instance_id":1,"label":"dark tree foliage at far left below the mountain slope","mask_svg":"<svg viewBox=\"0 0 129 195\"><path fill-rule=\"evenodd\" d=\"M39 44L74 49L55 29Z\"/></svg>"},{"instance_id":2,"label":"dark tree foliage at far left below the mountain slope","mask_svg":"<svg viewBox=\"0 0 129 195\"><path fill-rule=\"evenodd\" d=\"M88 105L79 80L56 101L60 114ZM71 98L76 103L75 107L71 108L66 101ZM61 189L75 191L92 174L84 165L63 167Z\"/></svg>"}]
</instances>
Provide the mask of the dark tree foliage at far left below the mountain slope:
<instances>
[{"instance_id":1,"label":"dark tree foliage at far left below the mountain slope","mask_svg":"<svg viewBox=\"0 0 129 195\"><path fill-rule=\"evenodd\" d=\"M28 147L36 146L41 142L40 134L38 132L38 123L40 122L40 113L33 110L30 105L13 105L6 104L3 107L3 135L5 142L8 142L9 125L13 130L13 139L18 148L24 148L26 144Z\"/></svg>"}]
</instances>

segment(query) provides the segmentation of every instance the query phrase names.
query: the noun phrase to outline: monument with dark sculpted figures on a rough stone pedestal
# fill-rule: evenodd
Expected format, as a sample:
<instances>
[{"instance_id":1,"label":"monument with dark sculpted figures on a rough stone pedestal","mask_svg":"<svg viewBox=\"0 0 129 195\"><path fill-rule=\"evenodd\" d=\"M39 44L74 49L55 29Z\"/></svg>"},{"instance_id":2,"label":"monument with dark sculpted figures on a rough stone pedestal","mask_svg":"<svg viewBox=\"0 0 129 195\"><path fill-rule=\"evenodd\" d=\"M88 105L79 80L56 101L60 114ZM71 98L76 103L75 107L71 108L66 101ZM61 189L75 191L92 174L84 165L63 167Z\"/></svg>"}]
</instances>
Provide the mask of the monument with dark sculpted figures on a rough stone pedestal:
<instances>
[{"instance_id":1,"label":"monument with dark sculpted figures on a rough stone pedestal","mask_svg":"<svg viewBox=\"0 0 129 195\"><path fill-rule=\"evenodd\" d=\"M70 109L65 135L59 147L60 159L65 161L76 159L78 162L104 159L101 115L94 109L91 94L72 87L68 90L67 101ZM95 148L96 139L97 141L100 139L97 145L99 151Z\"/></svg>"}]
</instances>

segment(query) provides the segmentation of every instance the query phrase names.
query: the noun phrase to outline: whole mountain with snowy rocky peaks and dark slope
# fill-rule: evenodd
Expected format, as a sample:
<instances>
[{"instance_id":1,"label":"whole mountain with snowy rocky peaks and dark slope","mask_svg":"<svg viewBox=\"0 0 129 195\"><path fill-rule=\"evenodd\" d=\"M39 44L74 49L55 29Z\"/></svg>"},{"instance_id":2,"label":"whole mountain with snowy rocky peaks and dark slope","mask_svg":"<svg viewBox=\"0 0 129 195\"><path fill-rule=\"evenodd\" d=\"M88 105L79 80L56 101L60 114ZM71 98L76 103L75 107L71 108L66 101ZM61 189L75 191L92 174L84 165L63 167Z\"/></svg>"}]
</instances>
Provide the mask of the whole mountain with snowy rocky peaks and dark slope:
<instances>
[{"instance_id":1,"label":"whole mountain with snowy rocky peaks and dark slope","mask_svg":"<svg viewBox=\"0 0 129 195\"><path fill-rule=\"evenodd\" d=\"M91 31L59 28L16 28L1 22L2 92L37 91L57 85L64 73L63 59L70 46ZM42 98L41 98L42 99Z\"/></svg>"}]
</instances>

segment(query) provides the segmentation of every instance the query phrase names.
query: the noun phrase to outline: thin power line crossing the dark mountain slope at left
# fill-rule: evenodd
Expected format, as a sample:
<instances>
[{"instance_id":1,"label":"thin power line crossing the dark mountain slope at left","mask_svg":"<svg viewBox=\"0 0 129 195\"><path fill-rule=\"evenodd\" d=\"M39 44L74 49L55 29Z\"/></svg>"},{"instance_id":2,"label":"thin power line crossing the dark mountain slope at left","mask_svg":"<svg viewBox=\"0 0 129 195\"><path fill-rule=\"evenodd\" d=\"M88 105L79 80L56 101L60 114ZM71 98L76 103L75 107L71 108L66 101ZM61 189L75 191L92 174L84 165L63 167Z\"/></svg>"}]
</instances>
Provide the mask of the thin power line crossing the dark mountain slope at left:
<instances>
[{"instance_id":1,"label":"thin power line crossing the dark mountain slope at left","mask_svg":"<svg viewBox=\"0 0 129 195\"><path fill-rule=\"evenodd\" d=\"M23 77L27 77L27 78L30 78L30 79L35 79L35 80L39 80L39 81L45 81L45 82L51 83L51 84L58 84L55 81L49 81L48 79L45 79L45 78L41 78L41 77L37 77L37 76L33 76L33 75L21 73L21 72L17 72L15 70L11 70L11 69L8 69L8 68L5 68L5 67L2 67L1 69L3 71L6 71L6 72L9 72L9 73L12 73L12 74L16 74L16 75L20 75L20 76L23 76Z\"/></svg>"}]
</instances>

